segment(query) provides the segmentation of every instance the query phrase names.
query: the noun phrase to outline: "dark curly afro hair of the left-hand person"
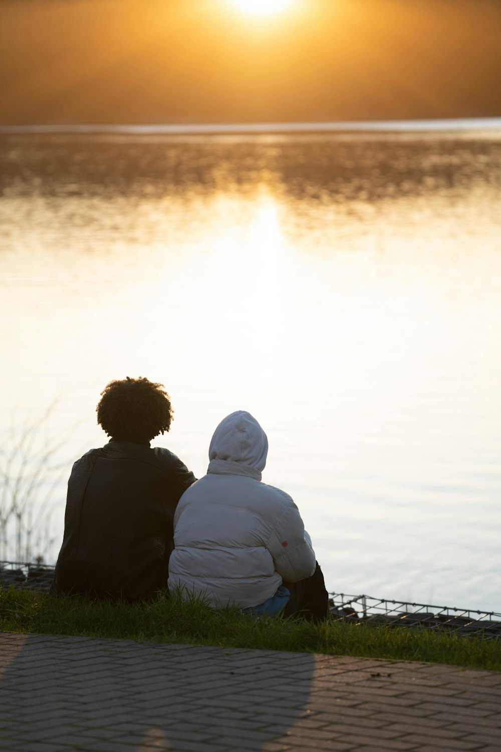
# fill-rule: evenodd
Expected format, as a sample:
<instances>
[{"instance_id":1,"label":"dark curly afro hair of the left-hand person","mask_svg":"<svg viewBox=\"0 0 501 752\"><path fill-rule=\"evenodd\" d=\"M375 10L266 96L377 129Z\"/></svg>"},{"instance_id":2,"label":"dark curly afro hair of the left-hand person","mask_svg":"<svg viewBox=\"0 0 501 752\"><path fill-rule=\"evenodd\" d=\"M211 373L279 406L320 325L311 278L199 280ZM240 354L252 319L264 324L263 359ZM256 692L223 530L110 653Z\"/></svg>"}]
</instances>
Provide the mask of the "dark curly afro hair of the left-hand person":
<instances>
[{"instance_id":1,"label":"dark curly afro hair of the left-hand person","mask_svg":"<svg viewBox=\"0 0 501 752\"><path fill-rule=\"evenodd\" d=\"M145 444L171 427L171 398L163 384L147 378L110 381L101 392L98 423L108 436L118 441Z\"/></svg>"}]
</instances>

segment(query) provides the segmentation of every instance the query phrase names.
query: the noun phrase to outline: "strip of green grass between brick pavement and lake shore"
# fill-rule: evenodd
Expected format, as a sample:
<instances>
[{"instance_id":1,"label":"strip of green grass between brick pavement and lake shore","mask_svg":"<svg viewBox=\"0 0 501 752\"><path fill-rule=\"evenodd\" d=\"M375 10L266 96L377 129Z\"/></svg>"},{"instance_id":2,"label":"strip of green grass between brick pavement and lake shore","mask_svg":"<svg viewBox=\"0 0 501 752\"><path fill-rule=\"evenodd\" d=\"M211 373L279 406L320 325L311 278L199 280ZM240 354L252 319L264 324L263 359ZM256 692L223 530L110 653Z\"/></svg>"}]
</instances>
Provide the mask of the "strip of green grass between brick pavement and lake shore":
<instances>
[{"instance_id":1,"label":"strip of green grass between brick pavement and lake shore","mask_svg":"<svg viewBox=\"0 0 501 752\"><path fill-rule=\"evenodd\" d=\"M501 640L457 637L427 629L255 619L237 608L213 610L177 597L127 605L0 590L0 632L85 635L221 647L254 647L330 655L451 663L501 671Z\"/></svg>"}]
</instances>

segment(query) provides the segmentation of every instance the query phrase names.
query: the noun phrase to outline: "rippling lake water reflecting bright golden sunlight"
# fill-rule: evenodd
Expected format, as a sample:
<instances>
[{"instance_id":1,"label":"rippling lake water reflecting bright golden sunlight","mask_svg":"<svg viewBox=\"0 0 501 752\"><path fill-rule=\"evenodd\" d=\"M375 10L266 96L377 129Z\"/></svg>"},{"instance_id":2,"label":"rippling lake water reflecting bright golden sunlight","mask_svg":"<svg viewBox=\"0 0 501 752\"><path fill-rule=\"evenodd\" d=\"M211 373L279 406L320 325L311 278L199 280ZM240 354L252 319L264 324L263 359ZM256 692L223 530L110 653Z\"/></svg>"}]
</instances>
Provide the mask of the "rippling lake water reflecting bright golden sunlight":
<instances>
[{"instance_id":1,"label":"rippling lake water reflecting bright golden sunlight","mask_svg":"<svg viewBox=\"0 0 501 752\"><path fill-rule=\"evenodd\" d=\"M2 135L0 159L2 444L55 398L31 456L68 433L47 560L99 393L143 375L196 475L225 414L258 418L329 590L501 611L501 131Z\"/></svg>"}]
</instances>

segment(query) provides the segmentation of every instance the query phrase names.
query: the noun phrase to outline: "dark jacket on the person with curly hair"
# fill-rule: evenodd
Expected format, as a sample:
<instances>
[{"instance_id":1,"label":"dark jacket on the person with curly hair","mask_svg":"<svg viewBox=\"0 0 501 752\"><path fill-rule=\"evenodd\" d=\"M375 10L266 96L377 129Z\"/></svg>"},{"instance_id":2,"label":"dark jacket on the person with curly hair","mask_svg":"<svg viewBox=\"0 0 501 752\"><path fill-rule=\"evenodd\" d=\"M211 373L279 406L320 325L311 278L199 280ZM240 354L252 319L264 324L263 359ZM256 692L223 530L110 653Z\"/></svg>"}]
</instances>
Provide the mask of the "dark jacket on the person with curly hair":
<instances>
[{"instance_id":1,"label":"dark jacket on the person with curly hair","mask_svg":"<svg viewBox=\"0 0 501 752\"><path fill-rule=\"evenodd\" d=\"M147 598L167 587L177 502L195 481L168 449L110 441L74 463L56 593Z\"/></svg>"}]
</instances>

